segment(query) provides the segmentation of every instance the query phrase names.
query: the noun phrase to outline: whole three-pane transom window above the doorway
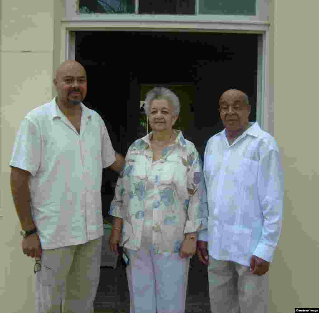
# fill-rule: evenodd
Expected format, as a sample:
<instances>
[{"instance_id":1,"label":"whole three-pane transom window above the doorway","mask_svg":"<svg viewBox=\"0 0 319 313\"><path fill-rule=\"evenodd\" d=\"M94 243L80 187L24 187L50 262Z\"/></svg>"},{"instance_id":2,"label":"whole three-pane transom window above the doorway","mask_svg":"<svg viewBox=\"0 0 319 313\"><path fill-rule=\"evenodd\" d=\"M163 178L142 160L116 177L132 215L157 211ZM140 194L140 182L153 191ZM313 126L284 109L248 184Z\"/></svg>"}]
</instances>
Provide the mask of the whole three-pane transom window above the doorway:
<instances>
[{"instance_id":1,"label":"whole three-pane transom window above the doorway","mask_svg":"<svg viewBox=\"0 0 319 313\"><path fill-rule=\"evenodd\" d=\"M79 14L256 15L263 0L78 0Z\"/></svg>"}]
</instances>

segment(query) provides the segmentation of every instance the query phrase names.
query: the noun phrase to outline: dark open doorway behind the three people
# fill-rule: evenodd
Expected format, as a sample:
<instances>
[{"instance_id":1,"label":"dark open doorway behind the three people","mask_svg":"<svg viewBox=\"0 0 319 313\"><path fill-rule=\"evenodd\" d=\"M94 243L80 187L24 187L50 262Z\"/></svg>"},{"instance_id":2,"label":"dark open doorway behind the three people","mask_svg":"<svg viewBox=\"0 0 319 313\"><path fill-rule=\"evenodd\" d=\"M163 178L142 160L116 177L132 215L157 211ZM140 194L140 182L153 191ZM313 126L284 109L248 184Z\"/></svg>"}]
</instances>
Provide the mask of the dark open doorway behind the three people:
<instances>
[{"instance_id":1,"label":"dark open doorway behind the three people","mask_svg":"<svg viewBox=\"0 0 319 313\"><path fill-rule=\"evenodd\" d=\"M223 129L218 106L225 90L246 92L252 106L250 120L256 121L257 47L258 35L253 34L79 31L75 59L87 72L84 103L101 115L117 152L125 155L141 137L139 107L145 86L162 84L181 86L181 118L189 123L180 127L204 156L208 139ZM116 179L111 170L103 171L102 211L108 221ZM115 270L101 270L95 301L100 308L129 307L125 271L118 264ZM198 307L198 312L209 312L208 303L207 270L194 257L187 310L197 312Z\"/></svg>"}]
</instances>

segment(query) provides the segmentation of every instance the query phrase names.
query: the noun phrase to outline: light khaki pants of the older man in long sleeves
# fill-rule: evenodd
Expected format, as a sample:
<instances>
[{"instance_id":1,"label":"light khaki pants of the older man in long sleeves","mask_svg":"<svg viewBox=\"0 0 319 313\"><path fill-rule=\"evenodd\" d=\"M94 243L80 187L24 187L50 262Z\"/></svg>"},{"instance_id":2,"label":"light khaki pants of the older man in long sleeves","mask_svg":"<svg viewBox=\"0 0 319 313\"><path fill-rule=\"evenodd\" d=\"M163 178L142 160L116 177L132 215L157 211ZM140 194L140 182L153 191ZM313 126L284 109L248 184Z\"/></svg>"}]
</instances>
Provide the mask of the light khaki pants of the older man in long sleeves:
<instances>
[{"instance_id":1,"label":"light khaki pants of the older man in long sleeves","mask_svg":"<svg viewBox=\"0 0 319 313\"><path fill-rule=\"evenodd\" d=\"M268 313L269 275L258 276L249 267L209 257L211 313Z\"/></svg>"}]
</instances>

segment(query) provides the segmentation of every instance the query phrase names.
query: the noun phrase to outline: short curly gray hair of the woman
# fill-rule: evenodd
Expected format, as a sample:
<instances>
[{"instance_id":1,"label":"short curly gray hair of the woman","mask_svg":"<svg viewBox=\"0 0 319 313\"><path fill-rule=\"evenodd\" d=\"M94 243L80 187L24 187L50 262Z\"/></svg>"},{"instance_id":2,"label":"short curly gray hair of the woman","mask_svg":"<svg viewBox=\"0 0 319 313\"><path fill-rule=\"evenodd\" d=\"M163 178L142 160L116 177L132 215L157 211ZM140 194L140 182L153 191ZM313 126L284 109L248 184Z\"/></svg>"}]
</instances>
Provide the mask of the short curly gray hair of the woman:
<instances>
[{"instance_id":1,"label":"short curly gray hair of the woman","mask_svg":"<svg viewBox=\"0 0 319 313\"><path fill-rule=\"evenodd\" d=\"M174 113L180 113L180 104L178 97L172 90L165 87L155 87L146 94L144 110L147 116L150 115L150 105L154 99L165 99L169 104L174 106Z\"/></svg>"}]
</instances>

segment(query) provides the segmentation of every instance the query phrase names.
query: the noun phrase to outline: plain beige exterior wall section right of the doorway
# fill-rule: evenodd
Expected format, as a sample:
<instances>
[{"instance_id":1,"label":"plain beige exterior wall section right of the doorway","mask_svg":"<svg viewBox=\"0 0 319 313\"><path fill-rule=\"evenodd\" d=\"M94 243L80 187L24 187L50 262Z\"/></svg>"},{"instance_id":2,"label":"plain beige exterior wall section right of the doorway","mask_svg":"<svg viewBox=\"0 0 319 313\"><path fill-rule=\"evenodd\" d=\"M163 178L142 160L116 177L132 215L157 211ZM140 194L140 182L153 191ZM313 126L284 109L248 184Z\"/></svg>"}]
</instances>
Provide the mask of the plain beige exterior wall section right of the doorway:
<instances>
[{"instance_id":1,"label":"plain beige exterior wall section right of the doorway","mask_svg":"<svg viewBox=\"0 0 319 313\"><path fill-rule=\"evenodd\" d=\"M286 197L271 266L271 313L319 307L318 10L313 0L274 4L275 137Z\"/></svg>"}]
</instances>

